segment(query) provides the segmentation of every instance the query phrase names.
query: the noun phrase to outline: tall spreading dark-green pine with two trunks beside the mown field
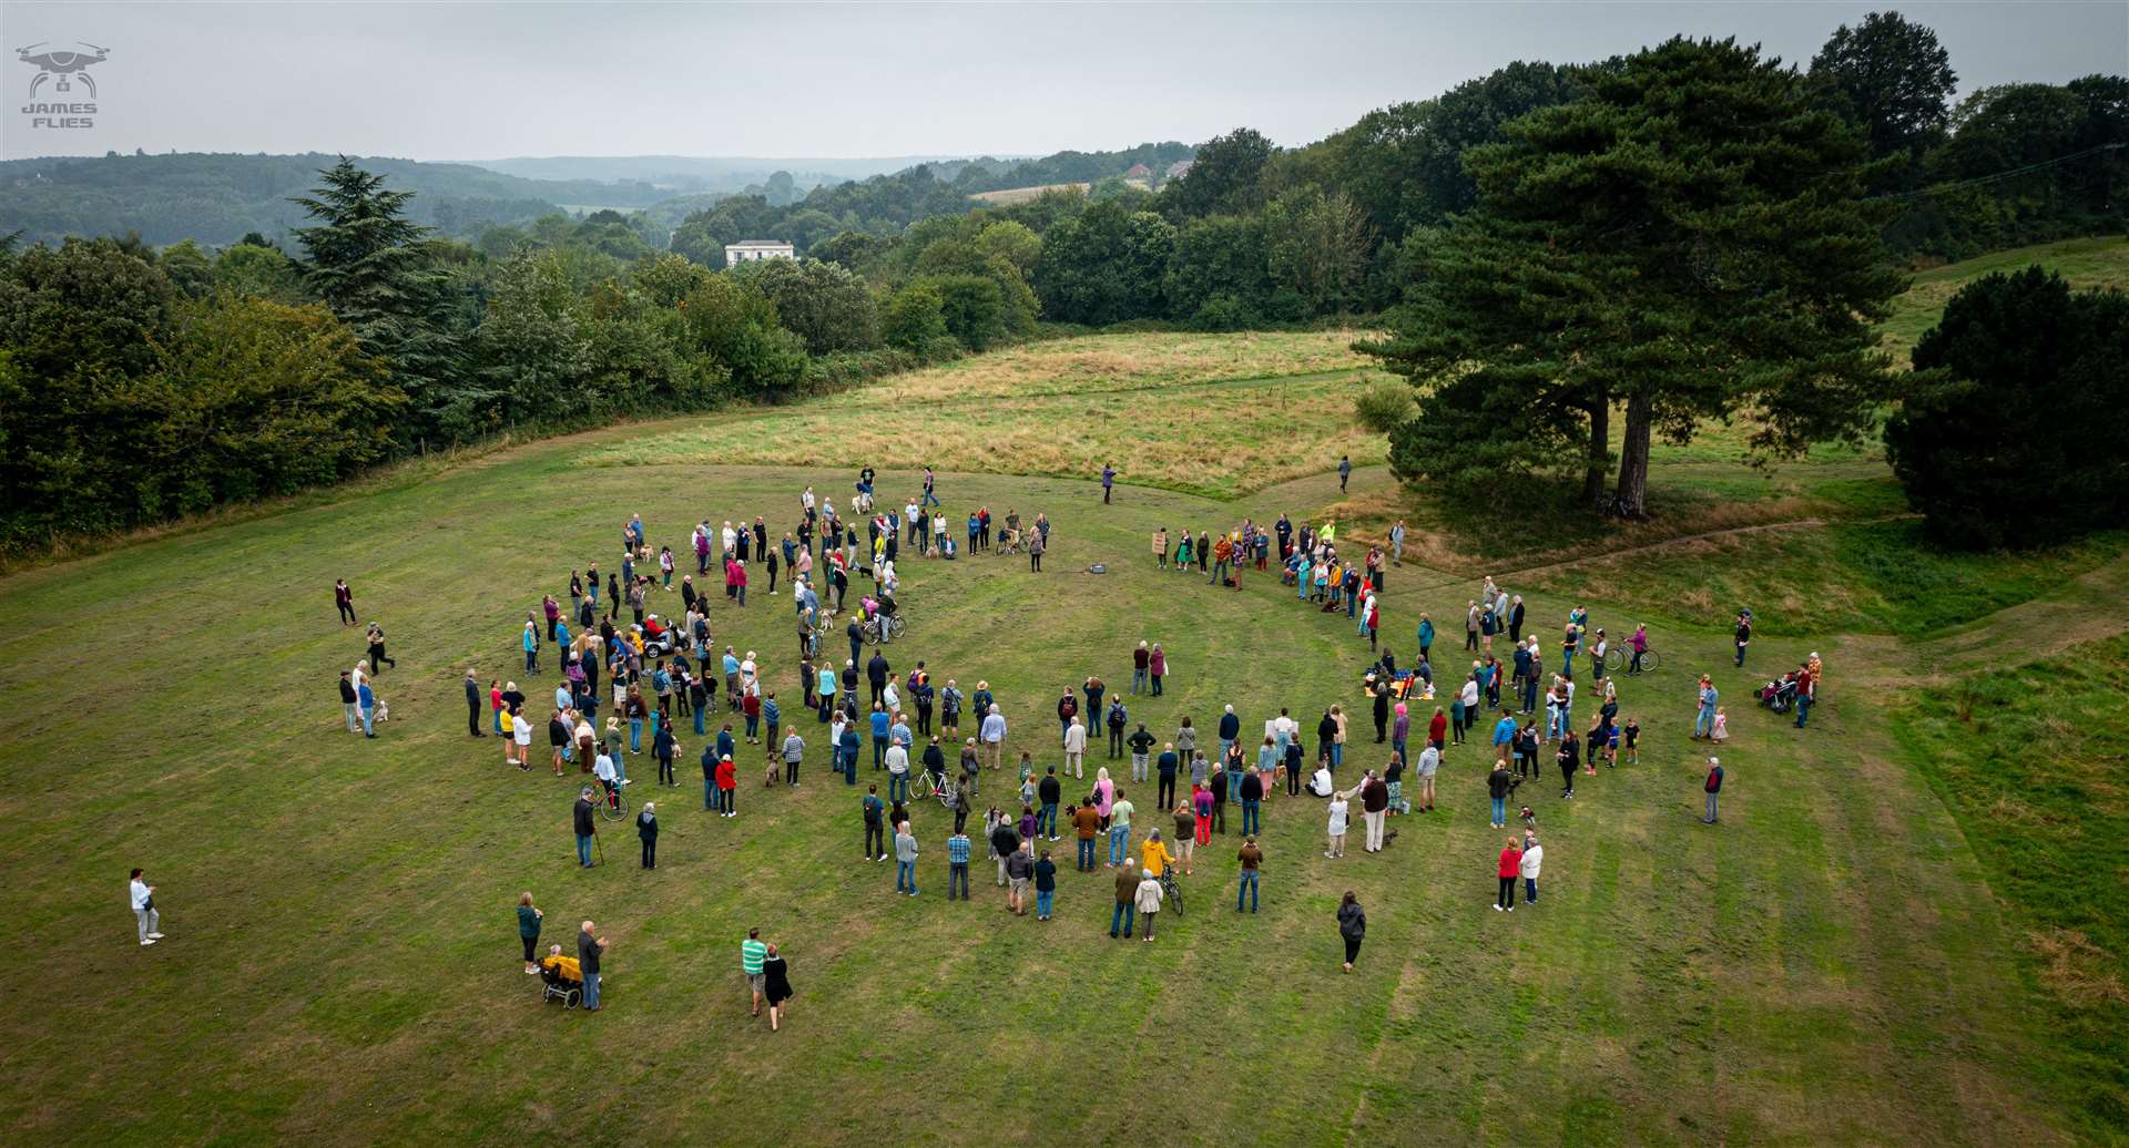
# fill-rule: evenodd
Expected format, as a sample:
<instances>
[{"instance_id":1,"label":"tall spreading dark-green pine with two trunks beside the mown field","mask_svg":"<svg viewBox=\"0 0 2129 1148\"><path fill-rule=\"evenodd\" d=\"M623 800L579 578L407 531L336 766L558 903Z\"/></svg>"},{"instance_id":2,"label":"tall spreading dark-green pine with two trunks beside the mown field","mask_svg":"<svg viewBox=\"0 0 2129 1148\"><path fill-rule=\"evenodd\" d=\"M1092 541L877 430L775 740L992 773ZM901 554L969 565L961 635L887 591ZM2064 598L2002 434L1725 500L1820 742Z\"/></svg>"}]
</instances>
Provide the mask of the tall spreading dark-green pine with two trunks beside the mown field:
<instances>
[{"instance_id":1,"label":"tall spreading dark-green pine with two trunks beside the mown field","mask_svg":"<svg viewBox=\"0 0 2129 1148\"><path fill-rule=\"evenodd\" d=\"M1735 40L1582 79L1465 153L1478 206L1416 244L1409 306L1365 347L1422 387L1399 474L1514 459L1595 495L1624 408L1616 495L1639 517L1658 434L1746 417L1786 455L1869 429L1891 385L1871 325L1903 278L1859 196L1861 134Z\"/></svg>"}]
</instances>

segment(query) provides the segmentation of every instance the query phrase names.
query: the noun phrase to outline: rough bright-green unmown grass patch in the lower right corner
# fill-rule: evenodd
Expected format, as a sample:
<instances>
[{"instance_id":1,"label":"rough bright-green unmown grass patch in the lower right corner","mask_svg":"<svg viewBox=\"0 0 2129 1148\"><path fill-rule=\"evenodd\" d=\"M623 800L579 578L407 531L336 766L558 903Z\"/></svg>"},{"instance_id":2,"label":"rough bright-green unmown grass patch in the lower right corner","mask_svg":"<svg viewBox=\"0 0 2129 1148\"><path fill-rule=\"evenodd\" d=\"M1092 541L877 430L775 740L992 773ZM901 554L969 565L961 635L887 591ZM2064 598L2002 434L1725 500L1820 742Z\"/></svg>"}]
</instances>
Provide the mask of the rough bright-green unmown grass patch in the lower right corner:
<instances>
[{"instance_id":1,"label":"rough bright-green unmown grass patch in the lower right corner","mask_svg":"<svg viewBox=\"0 0 2129 1148\"><path fill-rule=\"evenodd\" d=\"M1959 818L2023 931L2046 1065L2080 1135L2129 1127L2129 640L1914 693L1901 746Z\"/></svg>"}]
</instances>

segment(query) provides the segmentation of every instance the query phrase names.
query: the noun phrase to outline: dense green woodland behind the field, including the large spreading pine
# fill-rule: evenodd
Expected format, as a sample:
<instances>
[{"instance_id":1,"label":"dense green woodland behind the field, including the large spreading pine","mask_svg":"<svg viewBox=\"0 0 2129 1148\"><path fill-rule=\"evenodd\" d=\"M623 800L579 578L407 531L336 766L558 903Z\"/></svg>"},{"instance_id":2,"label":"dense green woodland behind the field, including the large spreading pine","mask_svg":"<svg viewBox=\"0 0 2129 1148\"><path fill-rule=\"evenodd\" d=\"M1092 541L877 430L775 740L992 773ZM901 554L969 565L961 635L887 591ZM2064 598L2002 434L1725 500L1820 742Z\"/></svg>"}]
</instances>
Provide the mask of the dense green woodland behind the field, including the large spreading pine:
<instances>
[{"instance_id":1,"label":"dense green woodland behind the field, including the large spreading pine","mask_svg":"<svg viewBox=\"0 0 2129 1148\"><path fill-rule=\"evenodd\" d=\"M1595 495L1616 463L1616 508L1639 514L1650 440L1703 419L1752 417L1767 455L1871 432L1899 383L1869 319L1903 261L2123 227L2129 151L2108 145L2129 140L2129 81L1957 106L1954 83L1927 28L1874 15L1810 66L1695 40L1512 64L1299 149L1243 128L588 215L477 168L424 189L392 162L270 157L300 166L292 193L279 170L238 185L224 157L57 162L109 174L136 217L153 202L247 234L0 253L0 544L502 429L783 402L1045 325L1354 315L1380 317L1369 349L1416 385L1382 415L1401 476ZM119 191L160 159L151 196ZM1152 189L1122 179L1133 164ZM1090 187L971 200L1052 183ZM0 219L23 225L34 191L15 179ZM85 221L109 206L68 204ZM724 270L741 238L803 259Z\"/></svg>"}]
</instances>

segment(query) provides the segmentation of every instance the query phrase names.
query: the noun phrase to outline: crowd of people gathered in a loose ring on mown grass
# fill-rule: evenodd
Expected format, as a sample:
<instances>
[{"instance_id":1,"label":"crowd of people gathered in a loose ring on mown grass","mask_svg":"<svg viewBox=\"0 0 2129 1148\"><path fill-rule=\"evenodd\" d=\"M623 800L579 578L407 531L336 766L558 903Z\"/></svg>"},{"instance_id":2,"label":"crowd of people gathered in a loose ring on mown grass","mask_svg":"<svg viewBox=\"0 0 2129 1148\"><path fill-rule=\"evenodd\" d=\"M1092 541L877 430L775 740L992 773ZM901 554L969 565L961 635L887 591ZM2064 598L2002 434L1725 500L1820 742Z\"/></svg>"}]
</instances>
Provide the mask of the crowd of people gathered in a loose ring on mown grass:
<instances>
[{"instance_id":1,"label":"crowd of people gathered in a loose ring on mown grass","mask_svg":"<svg viewBox=\"0 0 2129 1148\"><path fill-rule=\"evenodd\" d=\"M1113 470L1105 468L1105 502L1113 487ZM1348 755L1348 714L1333 704L1314 725L1303 725L1288 708L1277 714L1254 714L1260 733L1243 736L1245 716L1233 704L1220 708L1209 727L1177 714L1165 736L1156 736L1133 714L1139 697L1162 697L1175 672L1169 651L1158 640L1139 640L1130 651L1130 687L1109 689L1103 676L1088 674L1058 691L1056 740L1013 733L1009 740L1007 704L988 680L962 691L956 678L937 682L922 659L890 657L890 619L901 617L901 578L896 561L905 553L952 559L960 553L1024 551L1030 570L1041 570L1041 553L1050 544L1052 525L1035 514L1022 525L1007 510L992 538L992 514L977 506L967 514L960 544L937 495L937 478L926 470L922 491L901 508L879 508L873 497L875 474L867 468L847 500L847 519L832 497L818 497L811 487L801 491L794 525L773 536L762 517L752 523L707 519L690 529L681 553L694 553L694 572L679 572L673 546L651 546L641 514L630 514L622 527L622 557L615 570L598 563L571 570L566 606L562 597L543 595L539 608L526 614L519 629L524 674L551 674L554 695L534 702L517 680L488 678L466 670L466 731L471 738L490 733L505 740L505 761L530 770L534 738L534 706L545 710L549 733L549 767L566 776L568 765L590 780L579 789L573 808L577 861L592 867L600 801L617 804L628 778L628 759L645 750L658 763L658 784L677 787L675 759L681 729L692 727L703 738L703 808L720 816L739 816L739 765L747 750L762 761L764 787L798 787L801 765L809 753L826 753L826 763L845 787L858 787L860 757L867 740L873 746L873 780L858 797L862 833L860 857L867 863L894 861L894 893L918 897L920 855L924 852L915 810L937 797L939 814L952 821L945 835L947 899L969 899L969 867L977 842L994 867L994 884L1003 906L1013 914L1052 921L1060 891L1060 863L1054 844L1067 835L1075 844L1073 872L1109 870L1113 901L1111 938L1154 940L1158 921L1177 878L1194 876L1199 852L1216 848L1214 838L1228 835L1228 810L1235 810L1235 859L1239 878L1235 912L1256 912L1265 880L1265 823L1284 795L1305 812L1303 797L1322 801L1324 859L1346 857L1346 838L1354 814L1363 823L1360 850L1384 852L1397 838L1390 818L1431 814L1437 810L1437 774L1446 755L1467 744L1490 746L1490 772L1484 784L1490 797L1492 829L1509 823L1509 801L1524 780L1537 778L1539 755L1550 748L1561 770L1561 799L1575 797L1578 776L1590 778L1603 767L1637 763L1639 723L1620 719L1620 676L1637 676L1648 651L1646 625L1635 625L1627 638L1633 657L1618 674L1610 674L1612 653L1603 627L1592 627L1588 610L1575 606L1558 631L1558 668L1546 665L1548 651L1537 634L1524 634L1529 623L1520 595L1505 593L1484 578L1478 597L1469 602L1465 653L1467 672L1441 672L1433 663L1435 625L1422 612L1414 629L1416 653L1401 665L1390 644L1382 640L1382 604L1386 565L1401 563L1405 542L1397 523L1384 546L1341 551L1337 525L1292 523L1280 514L1260 525L1243 519L1224 534L1205 529L1156 529L1152 551L1156 568L1199 574L1211 587L1239 589L1243 572L1271 572L1273 563L1297 602L1318 606L1318 612L1343 612L1354 623L1354 636L1367 638L1373 661L1363 676L1363 695L1373 710L1373 744L1384 746L1382 761L1358 770L1356 778L1339 782ZM747 589L777 591L786 578L796 617L798 708L777 699L766 659L758 651L722 648L711 634L711 597L696 587L696 576L715 578L722 570L726 608L745 608ZM675 580L677 576L677 580ZM760 578L760 580L758 580ZM852 583L864 578L849 608ZM677 595L677 610L666 617L651 610L662 595ZM345 625L353 617L353 591L345 580L334 587L334 602ZM824 636L837 614L849 608L845 634L849 657L824 651ZM1744 659L1750 617L1739 619L1737 657ZM1497 638L1505 636L1505 661L1497 657ZM864 644L873 642L871 655ZM383 719L375 672L396 665L383 646L383 629L373 621L366 629L366 657L341 674L343 706L349 731L375 736ZM543 670L543 657L549 665ZM1575 661L1584 661L1578 674ZM841 661L841 665L837 665ZM896 668L896 661L903 661ZM1797 725L1803 725L1810 685L1822 674L1812 663L1786 680L1795 697ZM1795 682L1801 680L1801 687ZM1771 682L1769 689L1780 682ZM605 687L605 689L603 689ZM534 687L539 689L539 687ZM1416 706L1435 702L1420 738L1414 738ZM1578 731L1578 695L1595 695L1595 714L1586 731ZM607 706L603 716L598 710ZM1722 742L1724 712L1714 687L1701 678L1695 738ZM483 723L483 710L485 723ZM1024 712L1024 704L1022 704ZM801 729L801 716L811 714L820 733L811 740ZM1497 714L1497 716L1495 716ZM603 721L600 721L603 719ZM713 721L717 719L717 721ZM1107 761L1096 763L1088 778L1090 746L1107 731ZM1314 733L1314 738L1309 738ZM1414 740L1418 755L1407 757ZM1030 748L1020 748L1028 744ZM1007 767L1009 746L1018 750L1016 767ZM1037 765L1041 757L1041 765ZM1126 765L1128 761L1128 774ZM1412 782L1407 789L1407 780ZM918 784L922 782L922 784ZM1126 793L1128 784L1128 793ZM1710 757L1705 778L1707 816L1716 821L1716 793L1722 784L1720 761ZM1152 787L1148 793L1141 787ZM1284 793L1282 793L1284 791ZM920 799L922 793L922 799ZM1130 795L1145 801L1141 810ZM1358 804L1358 810L1354 810ZM981 810L981 825L971 821ZM1499 855L1501 878L1495 908L1516 908L1516 882L1522 882L1524 906L1537 901L1537 880L1544 850L1537 844L1535 812L1520 808L1520 838L1509 838ZM658 814L645 801L634 814L641 846L641 867L656 870ZM138 910L138 897L136 897ZM149 908L151 912L151 908ZM530 916L528 916L530 914ZM1346 942L1346 969L1358 955L1365 935L1365 912L1352 893L1339 906L1337 927ZM143 918L143 942L151 918ZM579 933L577 957L566 959L556 948L549 961L537 959L539 910L530 895L522 897L519 929L526 972L545 974L549 982L581 984L585 1010L598 1008L600 952L607 942L592 935L588 921ZM160 933L158 933L160 938ZM590 940L588 940L590 938ZM568 967L564 967L564 961ZM766 969L775 969L773 974ZM743 972L756 995L756 1010L769 997L771 1027L790 997L788 976L775 948L749 942L743 946Z\"/></svg>"}]
</instances>

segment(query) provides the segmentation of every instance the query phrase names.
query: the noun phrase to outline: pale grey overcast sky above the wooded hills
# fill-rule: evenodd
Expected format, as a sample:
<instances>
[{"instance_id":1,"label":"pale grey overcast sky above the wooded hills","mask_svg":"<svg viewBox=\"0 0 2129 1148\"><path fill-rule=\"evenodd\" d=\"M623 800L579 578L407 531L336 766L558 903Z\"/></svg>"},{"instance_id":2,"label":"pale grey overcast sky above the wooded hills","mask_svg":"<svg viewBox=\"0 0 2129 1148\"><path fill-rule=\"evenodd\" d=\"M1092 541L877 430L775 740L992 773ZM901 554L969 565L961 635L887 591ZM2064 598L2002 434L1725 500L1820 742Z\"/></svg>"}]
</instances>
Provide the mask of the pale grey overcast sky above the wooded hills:
<instances>
[{"instance_id":1,"label":"pale grey overcast sky above the wooded hills","mask_svg":"<svg viewBox=\"0 0 2129 1148\"><path fill-rule=\"evenodd\" d=\"M92 130L32 130L6 62L0 155L345 151L871 157L1301 145L1512 60L1665 36L1808 62L1888 4L102 4L0 0L0 47L109 49ZM1963 91L2129 72L2129 0L1901 4ZM49 51L49 49L40 49ZM81 85L38 100L81 100Z\"/></svg>"}]
</instances>

